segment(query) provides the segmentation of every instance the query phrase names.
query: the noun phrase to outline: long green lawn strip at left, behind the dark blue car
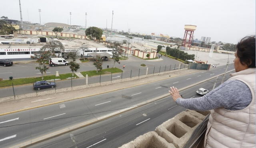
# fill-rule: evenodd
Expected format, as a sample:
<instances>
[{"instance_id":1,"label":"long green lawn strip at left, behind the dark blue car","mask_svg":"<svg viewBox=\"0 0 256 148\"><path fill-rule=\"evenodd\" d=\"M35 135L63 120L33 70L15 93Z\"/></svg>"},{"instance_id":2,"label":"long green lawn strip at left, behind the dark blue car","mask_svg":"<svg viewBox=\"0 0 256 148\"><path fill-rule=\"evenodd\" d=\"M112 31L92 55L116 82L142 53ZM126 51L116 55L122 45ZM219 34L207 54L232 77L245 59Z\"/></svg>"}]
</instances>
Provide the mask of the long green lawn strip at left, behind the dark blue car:
<instances>
[{"instance_id":1,"label":"long green lawn strip at left, behind the dark blue car","mask_svg":"<svg viewBox=\"0 0 256 148\"><path fill-rule=\"evenodd\" d=\"M55 77L55 75L46 75L46 76L44 76L44 80L66 79L71 76L72 76L72 73L60 74L60 77ZM77 75L75 73L74 73L74 77L77 77ZM35 81L42 81L42 77L3 80L3 81L0 81L0 87L12 86L12 83L13 83L13 85L23 85L23 84L28 84L28 83L34 83Z\"/></svg>"}]
</instances>

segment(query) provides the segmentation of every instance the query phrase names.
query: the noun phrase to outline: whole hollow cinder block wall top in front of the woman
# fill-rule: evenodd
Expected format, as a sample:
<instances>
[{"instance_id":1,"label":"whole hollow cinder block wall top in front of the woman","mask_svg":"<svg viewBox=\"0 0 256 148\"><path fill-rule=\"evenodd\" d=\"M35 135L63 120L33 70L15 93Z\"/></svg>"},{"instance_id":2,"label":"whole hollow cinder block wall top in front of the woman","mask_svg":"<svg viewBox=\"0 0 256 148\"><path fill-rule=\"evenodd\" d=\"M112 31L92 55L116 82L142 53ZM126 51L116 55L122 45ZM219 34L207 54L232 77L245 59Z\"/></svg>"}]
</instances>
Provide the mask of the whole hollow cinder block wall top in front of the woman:
<instances>
[{"instance_id":1,"label":"whole hollow cinder block wall top in front of the woman","mask_svg":"<svg viewBox=\"0 0 256 148\"><path fill-rule=\"evenodd\" d=\"M187 109L120 148L183 148L209 113Z\"/></svg>"}]
</instances>

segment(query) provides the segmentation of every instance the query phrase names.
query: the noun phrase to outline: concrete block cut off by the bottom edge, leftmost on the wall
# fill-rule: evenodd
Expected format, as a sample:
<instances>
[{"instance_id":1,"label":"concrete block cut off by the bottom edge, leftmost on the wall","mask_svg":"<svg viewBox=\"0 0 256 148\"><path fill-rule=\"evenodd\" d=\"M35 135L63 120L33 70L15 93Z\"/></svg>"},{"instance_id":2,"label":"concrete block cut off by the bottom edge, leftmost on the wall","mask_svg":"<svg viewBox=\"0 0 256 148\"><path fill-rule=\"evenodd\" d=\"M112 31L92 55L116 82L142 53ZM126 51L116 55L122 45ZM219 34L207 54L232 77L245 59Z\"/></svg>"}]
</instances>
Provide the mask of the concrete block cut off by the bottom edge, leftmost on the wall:
<instances>
[{"instance_id":1,"label":"concrete block cut off by the bottom edge, leftmost on the wall","mask_svg":"<svg viewBox=\"0 0 256 148\"><path fill-rule=\"evenodd\" d=\"M135 140L124 144L119 148L175 148L175 146L168 143L156 132L147 132L146 134L138 136Z\"/></svg>"}]
</instances>

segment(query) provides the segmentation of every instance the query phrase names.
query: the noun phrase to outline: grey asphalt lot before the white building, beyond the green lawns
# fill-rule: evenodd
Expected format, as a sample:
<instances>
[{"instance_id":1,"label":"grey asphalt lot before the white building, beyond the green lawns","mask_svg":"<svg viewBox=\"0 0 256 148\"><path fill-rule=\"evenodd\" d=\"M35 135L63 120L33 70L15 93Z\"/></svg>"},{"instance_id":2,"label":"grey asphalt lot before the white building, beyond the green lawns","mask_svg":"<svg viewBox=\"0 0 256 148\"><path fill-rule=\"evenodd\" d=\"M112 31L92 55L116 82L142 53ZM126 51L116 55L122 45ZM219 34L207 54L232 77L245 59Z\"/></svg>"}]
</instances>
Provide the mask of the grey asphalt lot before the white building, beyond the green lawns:
<instances>
[{"instance_id":1,"label":"grey asphalt lot before the white building, beyond the green lawns","mask_svg":"<svg viewBox=\"0 0 256 148\"><path fill-rule=\"evenodd\" d=\"M171 64L172 64L172 67L174 67L174 65L178 67L179 65L179 62L174 59L170 59L164 56L161 58L163 59L161 61L151 61L151 60L144 60L144 59L140 59L138 57L129 55L128 60L120 60L120 64L116 63L115 66L122 69L122 65L125 64L126 65L125 71L130 71L132 69L134 70L134 72L136 71L136 73L138 73L139 68L145 68L140 66L142 63L146 64L147 67L149 67L149 69L153 69L154 67L156 67L156 69L159 70L159 67L161 66L162 71L164 71L163 67L165 67L165 65L167 67L170 67ZM109 65L109 67L113 67L113 64L114 64L113 60L109 59L108 61L103 62L102 68L106 69L107 65ZM0 78L5 80L5 79L9 79L10 76L14 77L14 79L24 78L24 77L40 77L41 76L40 71L35 69L35 67L37 66L38 66L38 63L36 62L16 63L8 67L0 66ZM93 65L93 61L90 61L88 63L80 63L80 69L78 69L78 72L90 71L90 70L96 70L95 66ZM59 74L71 73L69 66L55 66L55 67L50 67L49 70L46 72L46 75L55 75L56 71L59 71Z\"/></svg>"}]
</instances>

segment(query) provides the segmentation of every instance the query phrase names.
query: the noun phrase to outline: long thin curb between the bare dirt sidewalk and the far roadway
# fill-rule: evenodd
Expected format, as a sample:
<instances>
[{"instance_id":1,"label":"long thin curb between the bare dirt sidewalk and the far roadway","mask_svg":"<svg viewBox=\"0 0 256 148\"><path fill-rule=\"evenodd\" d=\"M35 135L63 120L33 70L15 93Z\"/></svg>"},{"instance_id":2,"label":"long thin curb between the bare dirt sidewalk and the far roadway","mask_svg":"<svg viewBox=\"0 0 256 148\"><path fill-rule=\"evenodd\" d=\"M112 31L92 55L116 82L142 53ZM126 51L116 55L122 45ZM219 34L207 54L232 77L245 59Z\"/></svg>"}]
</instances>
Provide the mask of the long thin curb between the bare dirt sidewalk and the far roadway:
<instances>
[{"instance_id":1,"label":"long thin curb between the bare dirt sidewalk and the far roadway","mask_svg":"<svg viewBox=\"0 0 256 148\"><path fill-rule=\"evenodd\" d=\"M194 72L190 72L190 73L195 73L195 72L198 72L198 71L194 71ZM185 74L182 74L182 75L186 75L186 74L190 74L190 73L185 73ZM140 83L140 84L132 85L132 86L128 86L128 87L122 87L122 88L119 88L119 89L113 89L113 90L105 91L105 92L102 92L102 93L97 93L97 94L92 94L92 95L72 98L72 99L58 101L58 102L54 102L54 103L48 103L48 104L40 105L40 106L36 106L36 107L29 107L29 108L26 108L26 109L20 109L20 110L11 111L11 112L5 112L5 113L0 114L0 116L6 115L6 114L12 114L12 113L15 113L15 112L26 111L26 110L30 110L30 109L36 109L36 108L39 108L39 107L45 107L45 106L48 106L48 105L54 105L54 104L58 104L58 103L63 103L63 102L67 102L67 101L72 101L72 100L75 100L75 99L81 99L81 98L91 97L91 96L100 95L100 94L104 94L104 93L110 93L112 91L118 91L118 90L121 90L121 89L127 89L127 88L130 88L130 87L136 87L136 86L139 86L139 85L144 85L144 84L148 84L148 83L152 83L152 82L156 82L156 81L161 81L161 80L165 80L165 79L170 79L170 78L178 77L178 76L181 76L181 75L167 77L167 78L164 78L164 79L159 79L159 80L150 81L150 82L146 82L146 83Z\"/></svg>"}]
</instances>

